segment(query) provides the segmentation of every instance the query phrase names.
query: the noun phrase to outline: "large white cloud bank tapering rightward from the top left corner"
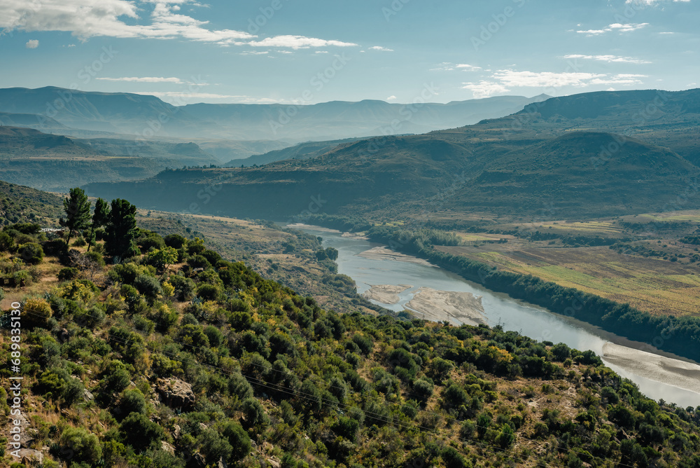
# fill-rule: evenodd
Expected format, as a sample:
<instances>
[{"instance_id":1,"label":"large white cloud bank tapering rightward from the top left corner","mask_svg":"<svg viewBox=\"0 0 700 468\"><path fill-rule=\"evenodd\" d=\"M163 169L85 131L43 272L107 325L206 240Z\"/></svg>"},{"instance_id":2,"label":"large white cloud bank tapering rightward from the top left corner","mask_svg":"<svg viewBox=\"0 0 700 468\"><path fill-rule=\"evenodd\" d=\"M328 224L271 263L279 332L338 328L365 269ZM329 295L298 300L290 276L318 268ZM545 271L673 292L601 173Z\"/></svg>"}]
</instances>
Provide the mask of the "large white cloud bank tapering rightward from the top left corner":
<instances>
[{"instance_id":1,"label":"large white cloud bank tapering rightward from the top left corner","mask_svg":"<svg viewBox=\"0 0 700 468\"><path fill-rule=\"evenodd\" d=\"M306 48L354 46L341 41L279 36L252 41L258 36L235 29L209 29L208 21L175 13L179 6L206 6L193 0L145 0L153 4L150 18L132 0L0 0L0 29L26 32L63 31L86 41L94 36L136 39L186 39L220 46L277 46ZM141 23L141 24L139 24Z\"/></svg>"}]
</instances>

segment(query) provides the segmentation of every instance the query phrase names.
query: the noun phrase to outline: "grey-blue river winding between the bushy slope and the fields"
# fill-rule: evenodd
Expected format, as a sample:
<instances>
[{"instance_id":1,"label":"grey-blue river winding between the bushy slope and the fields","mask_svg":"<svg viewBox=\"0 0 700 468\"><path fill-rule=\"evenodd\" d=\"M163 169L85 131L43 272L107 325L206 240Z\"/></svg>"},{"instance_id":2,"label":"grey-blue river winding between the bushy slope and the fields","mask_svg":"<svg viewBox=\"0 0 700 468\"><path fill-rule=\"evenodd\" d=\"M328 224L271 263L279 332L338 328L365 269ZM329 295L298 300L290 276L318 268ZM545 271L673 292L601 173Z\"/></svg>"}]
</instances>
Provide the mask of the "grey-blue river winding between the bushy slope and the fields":
<instances>
[{"instance_id":1,"label":"grey-blue river winding between the bushy slope and the fields","mask_svg":"<svg viewBox=\"0 0 700 468\"><path fill-rule=\"evenodd\" d=\"M700 393L696 391L685 390L678 386L672 385L673 378L669 378L669 374L659 374L657 378L662 381L652 380L650 373L642 369L640 365L644 361L650 361L656 356L643 355L634 350L650 350L648 345L637 343L613 333L609 333L598 329L590 324L580 322L574 318L564 317L549 312L546 309L535 305L523 303L507 296L500 294L479 284L464 280L462 277L450 273L447 270L430 265L426 262L409 262L391 259L387 257L377 258L373 256L360 256L363 252L374 247L381 247L357 237L343 236L334 230L318 228L316 226L290 226L304 230L309 234L318 235L323 238L323 247L333 247L338 251L338 273L348 275L355 280L359 294L363 294L367 289L376 285L410 285L409 289L398 294L398 303L385 304L377 301L372 301L385 308L401 311L405 309L405 305L413 298L416 291L421 287L428 287L438 291L461 291L482 296L482 305L484 307L484 316L486 323L491 326L500 324L505 330L518 331L519 333L535 338L537 340L549 340L554 343L566 343L569 347L575 347L577 350L593 350L601 356L605 365L610 369L619 373L620 376L629 378L636 383L640 390L648 397L655 400L664 399L667 402L673 402L682 406L700 406ZM454 320L453 320L454 322ZM634 362L631 360L626 364L615 365L603 356L603 347L606 343L613 345L622 345L615 347L616 350L626 350L628 355L631 355ZM606 347L610 350L611 345ZM678 366L687 366L687 359L671 355L659 350L652 350L654 355L661 357L672 358L665 359L662 367L671 368L672 370ZM678 359L678 360L675 360ZM619 363L619 361L618 361ZM671 364L669 366L669 363ZM692 364L691 364L692 366ZM700 368L699 368L700 369ZM645 376L640 375L645 374ZM672 376L673 374L671 374ZM656 376L656 374L652 375ZM697 371L693 369L691 373L685 375L685 380L692 383L696 379ZM678 380L680 382L680 378ZM680 384L679 384L680 385ZM682 386L682 385L681 385ZM686 388L688 388L686 386Z\"/></svg>"}]
</instances>

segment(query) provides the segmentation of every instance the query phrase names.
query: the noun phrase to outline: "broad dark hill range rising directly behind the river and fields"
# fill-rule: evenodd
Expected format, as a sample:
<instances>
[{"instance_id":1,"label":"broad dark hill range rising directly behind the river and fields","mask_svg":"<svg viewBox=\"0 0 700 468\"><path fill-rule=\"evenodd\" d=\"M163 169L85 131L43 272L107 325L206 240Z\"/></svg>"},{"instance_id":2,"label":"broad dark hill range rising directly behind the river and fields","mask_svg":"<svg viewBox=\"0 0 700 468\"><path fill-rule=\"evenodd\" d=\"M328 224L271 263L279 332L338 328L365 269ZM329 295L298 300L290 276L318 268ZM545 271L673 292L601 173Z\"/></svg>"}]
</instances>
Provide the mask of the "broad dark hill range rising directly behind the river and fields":
<instances>
[{"instance_id":1,"label":"broad dark hill range rising directly behind the river and fields","mask_svg":"<svg viewBox=\"0 0 700 468\"><path fill-rule=\"evenodd\" d=\"M89 190L106 197L127 191L144 207L277 219L308 209L312 197L323 200L323 212L348 214L482 210L553 218L649 212L687 194L700 177L700 168L667 144L674 132L679 136L672 142L682 142L681 130L700 117L692 106L674 107L698 92L668 93L661 130L654 130L651 118L640 126L630 112L647 107L654 92L617 92L603 99L590 93L463 128L343 144L317 158L169 171L146 181L92 184ZM573 103L566 116L549 111L561 102ZM577 105L587 117L575 117ZM575 123L634 128L644 140L574 131ZM654 144L654 137L666 147ZM684 206L700 206L700 198L687 198Z\"/></svg>"}]
</instances>

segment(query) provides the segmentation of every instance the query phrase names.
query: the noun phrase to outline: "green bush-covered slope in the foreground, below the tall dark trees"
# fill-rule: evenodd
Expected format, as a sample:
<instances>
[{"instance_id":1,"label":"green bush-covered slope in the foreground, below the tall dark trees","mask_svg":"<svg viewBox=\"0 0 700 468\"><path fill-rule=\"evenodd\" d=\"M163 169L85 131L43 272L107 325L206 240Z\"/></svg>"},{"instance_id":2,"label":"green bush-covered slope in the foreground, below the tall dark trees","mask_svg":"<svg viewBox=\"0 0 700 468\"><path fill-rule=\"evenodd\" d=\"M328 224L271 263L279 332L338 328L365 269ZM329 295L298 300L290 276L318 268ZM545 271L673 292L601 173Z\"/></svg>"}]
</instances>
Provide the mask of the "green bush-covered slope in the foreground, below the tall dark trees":
<instances>
[{"instance_id":1,"label":"green bush-covered slope in the foreground, below the tall dark trees","mask_svg":"<svg viewBox=\"0 0 700 468\"><path fill-rule=\"evenodd\" d=\"M4 288L0 358L21 301L22 445L45 467L700 466L700 408L591 352L337 315L179 235L108 267L101 242L4 234L2 268L44 285Z\"/></svg>"}]
</instances>

